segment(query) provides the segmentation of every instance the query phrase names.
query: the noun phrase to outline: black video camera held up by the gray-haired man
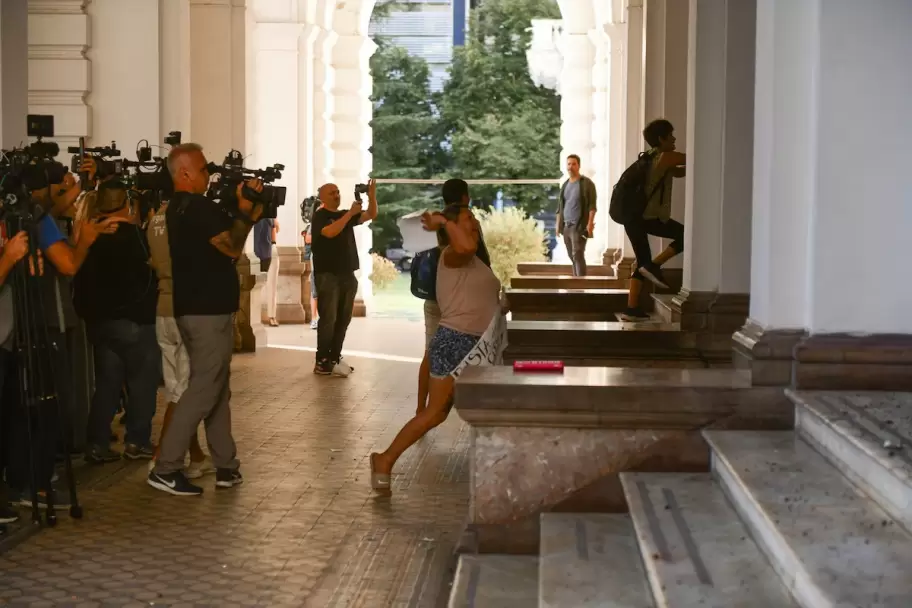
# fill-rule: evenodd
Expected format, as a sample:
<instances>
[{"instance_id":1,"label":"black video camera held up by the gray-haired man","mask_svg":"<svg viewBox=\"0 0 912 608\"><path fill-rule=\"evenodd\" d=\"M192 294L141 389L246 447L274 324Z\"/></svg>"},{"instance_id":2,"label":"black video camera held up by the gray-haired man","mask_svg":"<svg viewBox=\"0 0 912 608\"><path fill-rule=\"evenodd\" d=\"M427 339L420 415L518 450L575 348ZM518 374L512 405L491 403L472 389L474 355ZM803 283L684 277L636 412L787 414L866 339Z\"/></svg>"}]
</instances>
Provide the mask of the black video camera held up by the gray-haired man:
<instances>
[{"instance_id":1,"label":"black video camera held up by the gray-haired man","mask_svg":"<svg viewBox=\"0 0 912 608\"><path fill-rule=\"evenodd\" d=\"M237 187L249 179L263 181L263 191L256 192L246 185L242 189L244 198L253 204L263 205L262 218L275 219L278 217L279 207L285 204L285 186L270 186L277 179L282 178L285 165L275 164L265 169L247 169L244 167L244 157L237 150L232 150L225 157L221 165L209 163L209 173L218 175L220 179L214 181L206 196L222 203L230 215L237 214Z\"/></svg>"}]
</instances>

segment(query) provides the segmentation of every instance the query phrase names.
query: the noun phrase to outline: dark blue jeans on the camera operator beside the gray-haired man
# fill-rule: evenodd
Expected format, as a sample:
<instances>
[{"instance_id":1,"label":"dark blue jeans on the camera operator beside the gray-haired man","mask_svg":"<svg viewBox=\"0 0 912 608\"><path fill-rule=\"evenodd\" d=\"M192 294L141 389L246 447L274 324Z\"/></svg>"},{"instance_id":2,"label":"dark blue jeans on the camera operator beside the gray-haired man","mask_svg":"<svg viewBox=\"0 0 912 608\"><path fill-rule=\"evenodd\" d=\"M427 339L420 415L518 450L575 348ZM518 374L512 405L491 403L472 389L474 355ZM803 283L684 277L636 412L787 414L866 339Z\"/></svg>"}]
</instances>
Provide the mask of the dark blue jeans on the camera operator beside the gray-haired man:
<instances>
[{"instance_id":1,"label":"dark blue jeans on the camera operator beside the gray-haired man","mask_svg":"<svg viewBox=\"0 0 912 608\"><path fill-rule=\"evenodd\" d=\"M111 421L126 383L130 399L124 442L150 445L161 361L155 324L117 319L89 323L86 330L95 347L95 394L86 429L88 444L106 447L111 443Z\"/></svg>"}]
</instances>

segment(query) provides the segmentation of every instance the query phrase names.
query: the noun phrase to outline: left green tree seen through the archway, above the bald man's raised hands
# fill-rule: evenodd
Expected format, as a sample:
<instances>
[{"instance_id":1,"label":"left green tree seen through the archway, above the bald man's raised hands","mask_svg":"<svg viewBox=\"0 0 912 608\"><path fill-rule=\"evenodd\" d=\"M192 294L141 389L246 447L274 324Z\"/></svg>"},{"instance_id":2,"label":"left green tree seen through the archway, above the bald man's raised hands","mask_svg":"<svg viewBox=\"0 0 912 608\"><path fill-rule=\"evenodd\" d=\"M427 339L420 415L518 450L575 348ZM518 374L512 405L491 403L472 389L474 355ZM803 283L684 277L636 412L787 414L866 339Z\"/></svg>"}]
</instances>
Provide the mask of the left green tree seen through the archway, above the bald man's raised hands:
<instances>
[{"instance_id":1,"label":"left green tree seen through the archway, above the bald man's raised hands","mask_svg":"<svg viewBox=\"0 0 912 608\"><path fill-rule=\"evenodd\" d=\"M376 17L376 15L375 15ZM375 38L378 49L371 58L374 79L372 177L429 179L447 163L437 135L438 117L431 102L427 62ZM401 238L396 221L413 211L439 206L437 186L377 186L381 213L372 223L374 249L381 254Z\"/></svg>"}]
</instances>

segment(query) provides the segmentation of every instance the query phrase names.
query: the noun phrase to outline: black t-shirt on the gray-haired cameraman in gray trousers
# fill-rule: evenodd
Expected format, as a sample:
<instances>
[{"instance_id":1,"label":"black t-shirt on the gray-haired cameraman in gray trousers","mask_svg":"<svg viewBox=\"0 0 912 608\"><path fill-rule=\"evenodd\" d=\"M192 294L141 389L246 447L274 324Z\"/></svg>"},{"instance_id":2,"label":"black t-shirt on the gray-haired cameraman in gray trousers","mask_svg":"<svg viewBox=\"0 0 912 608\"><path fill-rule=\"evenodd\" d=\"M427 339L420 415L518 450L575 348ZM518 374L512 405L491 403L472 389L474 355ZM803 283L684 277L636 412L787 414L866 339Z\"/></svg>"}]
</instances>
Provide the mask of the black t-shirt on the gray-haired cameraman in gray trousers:
<instances>
[{"instance_id":1,"label":"black t-shirt on the gray-haired cameraman in gray trousers","mask_svg":"<svg viewBox=\"0 0 912 608\"><path fill-rule=\"evenodd\" d=\"M217 204L199 194L177 193L165 212L174 316L228 315L241 302L235 260L209 240L230 230L233 220Z\"/></svg>"}]
</instances>

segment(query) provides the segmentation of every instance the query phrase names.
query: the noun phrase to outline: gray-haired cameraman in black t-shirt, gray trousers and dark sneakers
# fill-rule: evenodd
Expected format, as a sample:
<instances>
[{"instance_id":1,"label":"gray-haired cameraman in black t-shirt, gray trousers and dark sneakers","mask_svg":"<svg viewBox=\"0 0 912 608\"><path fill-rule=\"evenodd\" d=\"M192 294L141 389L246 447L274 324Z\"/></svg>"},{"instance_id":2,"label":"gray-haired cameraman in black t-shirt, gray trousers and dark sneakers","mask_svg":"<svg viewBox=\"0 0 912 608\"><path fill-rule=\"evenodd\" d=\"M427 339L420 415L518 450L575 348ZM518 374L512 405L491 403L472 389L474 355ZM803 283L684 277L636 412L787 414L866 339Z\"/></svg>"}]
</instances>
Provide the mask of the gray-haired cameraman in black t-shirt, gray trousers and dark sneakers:
<instances>
[{"instance_id":1,"label":"gray-haired cameraman in black t-shirt, gray trousers and dark sneakers","mask_svg":"<svg viewBox=\"0 0 912 608\"><path fill-rule=\"evenodd\" d=\"M165 216L174 316L190 358L190 382L174 409L148 483L178 496L203 492L182 471L187 446L202 420L216 467L216 487L230 488L243 481L229 409L234 315L240 305L235 264L263 207L245 198L245 184L239 184L237 213L231 217L224 201L220 206L203 196L209 187L207 165L197 144L175 146L168 154L174 195ZM246 187L261 192L263 184L250 180Z\"/></svg>"}]
</instances>

